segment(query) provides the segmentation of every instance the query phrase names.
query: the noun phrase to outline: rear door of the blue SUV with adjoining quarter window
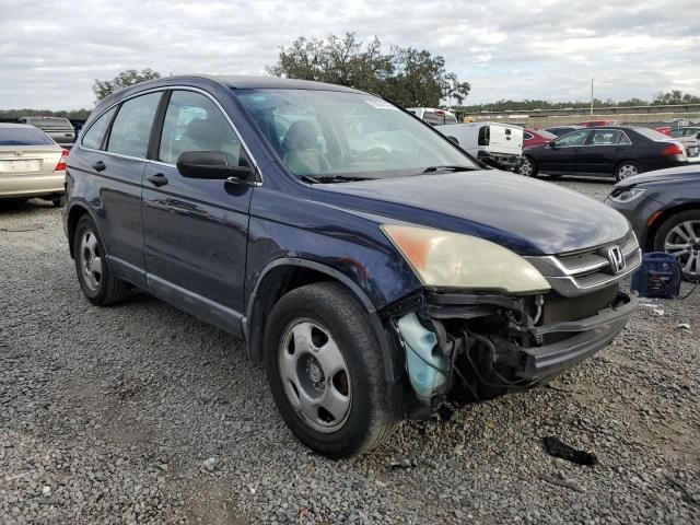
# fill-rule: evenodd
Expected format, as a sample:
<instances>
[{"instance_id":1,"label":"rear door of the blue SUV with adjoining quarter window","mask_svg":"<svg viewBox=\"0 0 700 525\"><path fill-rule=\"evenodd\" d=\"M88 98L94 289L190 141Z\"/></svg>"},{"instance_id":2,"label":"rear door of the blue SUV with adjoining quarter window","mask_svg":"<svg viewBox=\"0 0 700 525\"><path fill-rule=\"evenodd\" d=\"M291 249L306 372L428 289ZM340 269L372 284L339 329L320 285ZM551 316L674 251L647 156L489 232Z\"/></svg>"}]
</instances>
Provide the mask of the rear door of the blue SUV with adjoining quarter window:
<instances>
[{"instance_id":1,"label":"rear door of the blue SUV with adjoining quarter window","mask_svg":"<svg viewBox=\"0 0 700 525\"><path fill-rule=\"evenodd\" d=\"M126 100L96 120L81 144L80 167L100 180L100 201L91 205L95 208L110 266L121 277L139 284L145 282L141 178L161 96L159 91ZM112 121L114 113L110 112L116 113ZM100 144L91 130L105 125L107 133Z\"/></svg>"}]
</instances>

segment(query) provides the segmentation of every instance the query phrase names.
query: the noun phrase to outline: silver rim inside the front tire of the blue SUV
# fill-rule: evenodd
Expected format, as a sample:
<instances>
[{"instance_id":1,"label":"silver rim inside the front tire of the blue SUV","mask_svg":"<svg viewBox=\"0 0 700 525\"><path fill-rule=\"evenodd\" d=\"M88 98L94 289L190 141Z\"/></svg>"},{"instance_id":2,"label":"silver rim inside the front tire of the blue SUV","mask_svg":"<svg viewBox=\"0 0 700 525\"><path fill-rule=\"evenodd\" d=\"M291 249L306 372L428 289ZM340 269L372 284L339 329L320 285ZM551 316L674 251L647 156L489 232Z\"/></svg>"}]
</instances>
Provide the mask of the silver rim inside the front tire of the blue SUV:
<instances>
[{"instance_id":1,"label":"silver rim inside the front tire of the blue SUV","mask_svg":"<svg viewBox=\"0 0 700 525\"><path fill-rule=\"evenodd\" d=\"M339 430L350 415L350 373L338 345L318 323L295 319L284 329L278 352L287 399L299 417L322 433Z\"/></svg>"}]
</instances>

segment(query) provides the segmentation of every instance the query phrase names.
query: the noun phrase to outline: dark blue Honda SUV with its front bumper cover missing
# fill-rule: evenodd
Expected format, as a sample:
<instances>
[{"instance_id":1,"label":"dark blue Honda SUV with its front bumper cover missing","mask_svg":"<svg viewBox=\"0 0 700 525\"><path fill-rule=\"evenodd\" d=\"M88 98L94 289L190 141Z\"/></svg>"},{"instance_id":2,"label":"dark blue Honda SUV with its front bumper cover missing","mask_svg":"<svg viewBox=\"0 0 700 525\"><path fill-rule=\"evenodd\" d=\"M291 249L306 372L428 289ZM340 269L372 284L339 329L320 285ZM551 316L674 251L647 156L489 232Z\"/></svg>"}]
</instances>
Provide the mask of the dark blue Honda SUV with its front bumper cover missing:
<instances>
[{"instance_id":1,"label":"dark blue Honda SUV with its front bumper cover missing","mask_svg":"<svg viewBox=\"0 0 700 525\"><path fill-rule=\"evenodd\" d=\"M287 423L329 456L445 400L544 384L634 310L620 214L482 170L374 95L171 77L84 129L65 222L88 299L138 287L244 336Z\"/></svg>"}]
</instances>

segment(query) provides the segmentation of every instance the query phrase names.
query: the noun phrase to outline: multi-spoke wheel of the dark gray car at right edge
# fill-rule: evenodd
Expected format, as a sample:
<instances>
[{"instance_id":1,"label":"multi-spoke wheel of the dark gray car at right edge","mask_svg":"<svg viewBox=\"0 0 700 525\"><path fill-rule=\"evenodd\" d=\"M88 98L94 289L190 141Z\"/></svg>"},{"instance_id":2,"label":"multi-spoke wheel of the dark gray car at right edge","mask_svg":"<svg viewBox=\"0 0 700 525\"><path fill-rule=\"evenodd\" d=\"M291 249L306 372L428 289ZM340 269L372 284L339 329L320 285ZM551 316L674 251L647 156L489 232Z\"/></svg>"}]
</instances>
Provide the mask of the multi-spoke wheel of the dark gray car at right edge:
<instances>
[{"instance_id":1,"label":"multi-spoke wheel of the dark gray car at right edge","mask_svg":"<svg viewBox=\"0 0 700 525\"><path fill-rule=\"evenodd\" d=\"M700 210L681 211L666 219L654 236L654 249L676 255L682 278L700 281Z\"/></svg>"}]
</instances>

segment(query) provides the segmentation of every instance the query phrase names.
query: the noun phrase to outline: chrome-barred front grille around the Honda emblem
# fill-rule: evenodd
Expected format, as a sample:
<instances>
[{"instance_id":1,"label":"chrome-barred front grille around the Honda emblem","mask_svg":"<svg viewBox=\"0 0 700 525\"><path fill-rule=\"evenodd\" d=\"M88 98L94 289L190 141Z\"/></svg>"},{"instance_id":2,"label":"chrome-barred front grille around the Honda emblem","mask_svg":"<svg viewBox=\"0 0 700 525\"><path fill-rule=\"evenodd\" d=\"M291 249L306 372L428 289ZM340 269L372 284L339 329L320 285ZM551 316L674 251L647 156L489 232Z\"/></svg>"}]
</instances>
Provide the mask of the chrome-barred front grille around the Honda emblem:
<instances>
[{"instance_id":1,"label":"chrome-barred front grille around the Honda emblem","mask_svg":"<svg viewBox=\"0 0 700 525\"><path fill-rule=\"evenodd\" d=\"M610 261L603 254L612 246L619 246L626 268L611 273ZM575 255L547 255L525 257L547 279L551 288L561 295L571 298L590 293L620 281L632 273L642 262L642 252L632 232L623 238L576 252Z\"/></svg>"}]
</instances>

